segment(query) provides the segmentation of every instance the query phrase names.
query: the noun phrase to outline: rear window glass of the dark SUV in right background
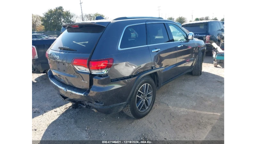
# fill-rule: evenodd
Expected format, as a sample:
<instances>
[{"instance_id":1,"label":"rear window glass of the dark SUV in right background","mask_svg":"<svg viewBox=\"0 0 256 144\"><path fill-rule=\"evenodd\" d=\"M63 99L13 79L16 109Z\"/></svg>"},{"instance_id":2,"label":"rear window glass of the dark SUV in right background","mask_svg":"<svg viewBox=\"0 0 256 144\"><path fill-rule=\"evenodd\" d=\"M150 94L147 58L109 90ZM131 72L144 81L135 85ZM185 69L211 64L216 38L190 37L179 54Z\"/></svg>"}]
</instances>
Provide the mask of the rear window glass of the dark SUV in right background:
<instances>
[{"instance_id":1,"label":"rear window glass of the dark SUV in right background","mask_svg":"<svg viewBox=\"0 0 256 144\"><path fill-rule=\"evenodd\" d=\"M206 32L207 24L199 23L199 24L183 25L182 28L184 28L187 31L187 33L189 32L201 33L201 32Z\"/></svg>"}]
</instances>

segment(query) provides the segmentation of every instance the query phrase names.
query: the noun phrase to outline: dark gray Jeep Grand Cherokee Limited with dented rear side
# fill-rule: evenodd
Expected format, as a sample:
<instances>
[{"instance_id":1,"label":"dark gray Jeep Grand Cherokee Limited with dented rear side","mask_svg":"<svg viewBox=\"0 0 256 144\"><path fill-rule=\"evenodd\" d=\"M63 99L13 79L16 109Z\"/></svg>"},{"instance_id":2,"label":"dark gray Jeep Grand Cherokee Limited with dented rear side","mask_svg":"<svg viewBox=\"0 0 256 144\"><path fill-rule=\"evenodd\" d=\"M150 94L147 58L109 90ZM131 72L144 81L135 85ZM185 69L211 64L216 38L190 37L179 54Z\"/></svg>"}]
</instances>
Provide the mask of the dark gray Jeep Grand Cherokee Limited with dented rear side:
<instances>
[{"instance_id":1,"label":"dark gray Jeep Grand Cherokee Limited with dented rear side","mask_svg":"<svg viewBox=\"0 0 256 144\"><path fill-rule=\"evenodd\" d=\"M63 27L46 52L48 76L73 108L142 118L161 86L187 72L202 74L204 41L174 21L121 17Z\"/></svg>"}]
</instances>

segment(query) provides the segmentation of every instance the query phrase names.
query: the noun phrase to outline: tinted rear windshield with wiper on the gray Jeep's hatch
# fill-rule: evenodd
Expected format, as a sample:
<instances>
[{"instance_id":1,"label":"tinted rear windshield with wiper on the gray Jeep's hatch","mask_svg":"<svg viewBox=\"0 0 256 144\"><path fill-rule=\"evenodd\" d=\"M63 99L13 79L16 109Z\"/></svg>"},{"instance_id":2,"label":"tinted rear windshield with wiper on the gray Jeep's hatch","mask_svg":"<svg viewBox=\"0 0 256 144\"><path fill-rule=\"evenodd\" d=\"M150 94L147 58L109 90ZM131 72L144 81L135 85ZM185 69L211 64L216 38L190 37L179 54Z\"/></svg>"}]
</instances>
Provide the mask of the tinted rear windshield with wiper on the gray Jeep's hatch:
<instances>
[{"instance_id":1,"label":"tinted rear windshield with wiper on the gray Jeep's hatch","mask_svg":"<svg viewBox=\"0 0 256 144\"><path fill-rule=\"evenodd\" d=\"M82 26L80 28L67 28L52 44L50 49L60 52L91 53L105 27ZM68 47L76 51L59 49Z\"/></svg>"}]
</instances>

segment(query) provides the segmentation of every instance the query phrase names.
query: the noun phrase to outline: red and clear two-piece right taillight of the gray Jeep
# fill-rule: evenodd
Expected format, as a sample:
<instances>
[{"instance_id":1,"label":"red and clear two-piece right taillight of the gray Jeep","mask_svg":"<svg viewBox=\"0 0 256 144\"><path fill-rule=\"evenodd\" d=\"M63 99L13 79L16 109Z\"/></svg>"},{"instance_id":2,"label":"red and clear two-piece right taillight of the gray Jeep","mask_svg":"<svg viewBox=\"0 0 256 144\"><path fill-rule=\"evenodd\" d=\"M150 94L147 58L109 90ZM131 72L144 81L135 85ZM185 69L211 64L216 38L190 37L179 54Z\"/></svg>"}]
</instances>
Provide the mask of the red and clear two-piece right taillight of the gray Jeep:
<instances>
[{"instance_id":1,"label":"red and clear two-piece right taillight of the gray Jeep","mask_svg":"<svg viewBox=\"0 0 256 144\"><path fill-rule=\"evenodd\" d=\"M112 67L114 59L90 60L89 67L87 58L75 58L72 60L72 65L82 72L91 72L92 74L106 74Z\"/></svg>"}]
</instances>

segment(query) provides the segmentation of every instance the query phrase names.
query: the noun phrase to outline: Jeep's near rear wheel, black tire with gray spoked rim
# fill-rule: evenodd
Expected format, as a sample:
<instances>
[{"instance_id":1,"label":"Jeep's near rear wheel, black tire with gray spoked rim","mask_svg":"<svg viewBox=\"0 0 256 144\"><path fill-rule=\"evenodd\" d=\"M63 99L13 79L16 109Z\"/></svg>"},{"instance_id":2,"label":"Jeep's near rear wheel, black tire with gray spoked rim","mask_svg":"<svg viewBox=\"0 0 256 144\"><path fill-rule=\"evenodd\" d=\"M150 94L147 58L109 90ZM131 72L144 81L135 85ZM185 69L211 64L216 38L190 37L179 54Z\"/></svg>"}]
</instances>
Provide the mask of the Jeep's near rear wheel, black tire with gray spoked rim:
<instances>
[{"instance_id":1,"label":"Jeep's near rear wheel, black tire with gray spoked rim","mask_svg":"<svg viewBox=\"0 0 256 144\"><path fill-rule=\"evenodd\" d=\"M134 91L130 103L123 109L133 118L143 118L151 111L156 99L156 85L149 76L143 76Z\"/></svg>"}]
</instances>

